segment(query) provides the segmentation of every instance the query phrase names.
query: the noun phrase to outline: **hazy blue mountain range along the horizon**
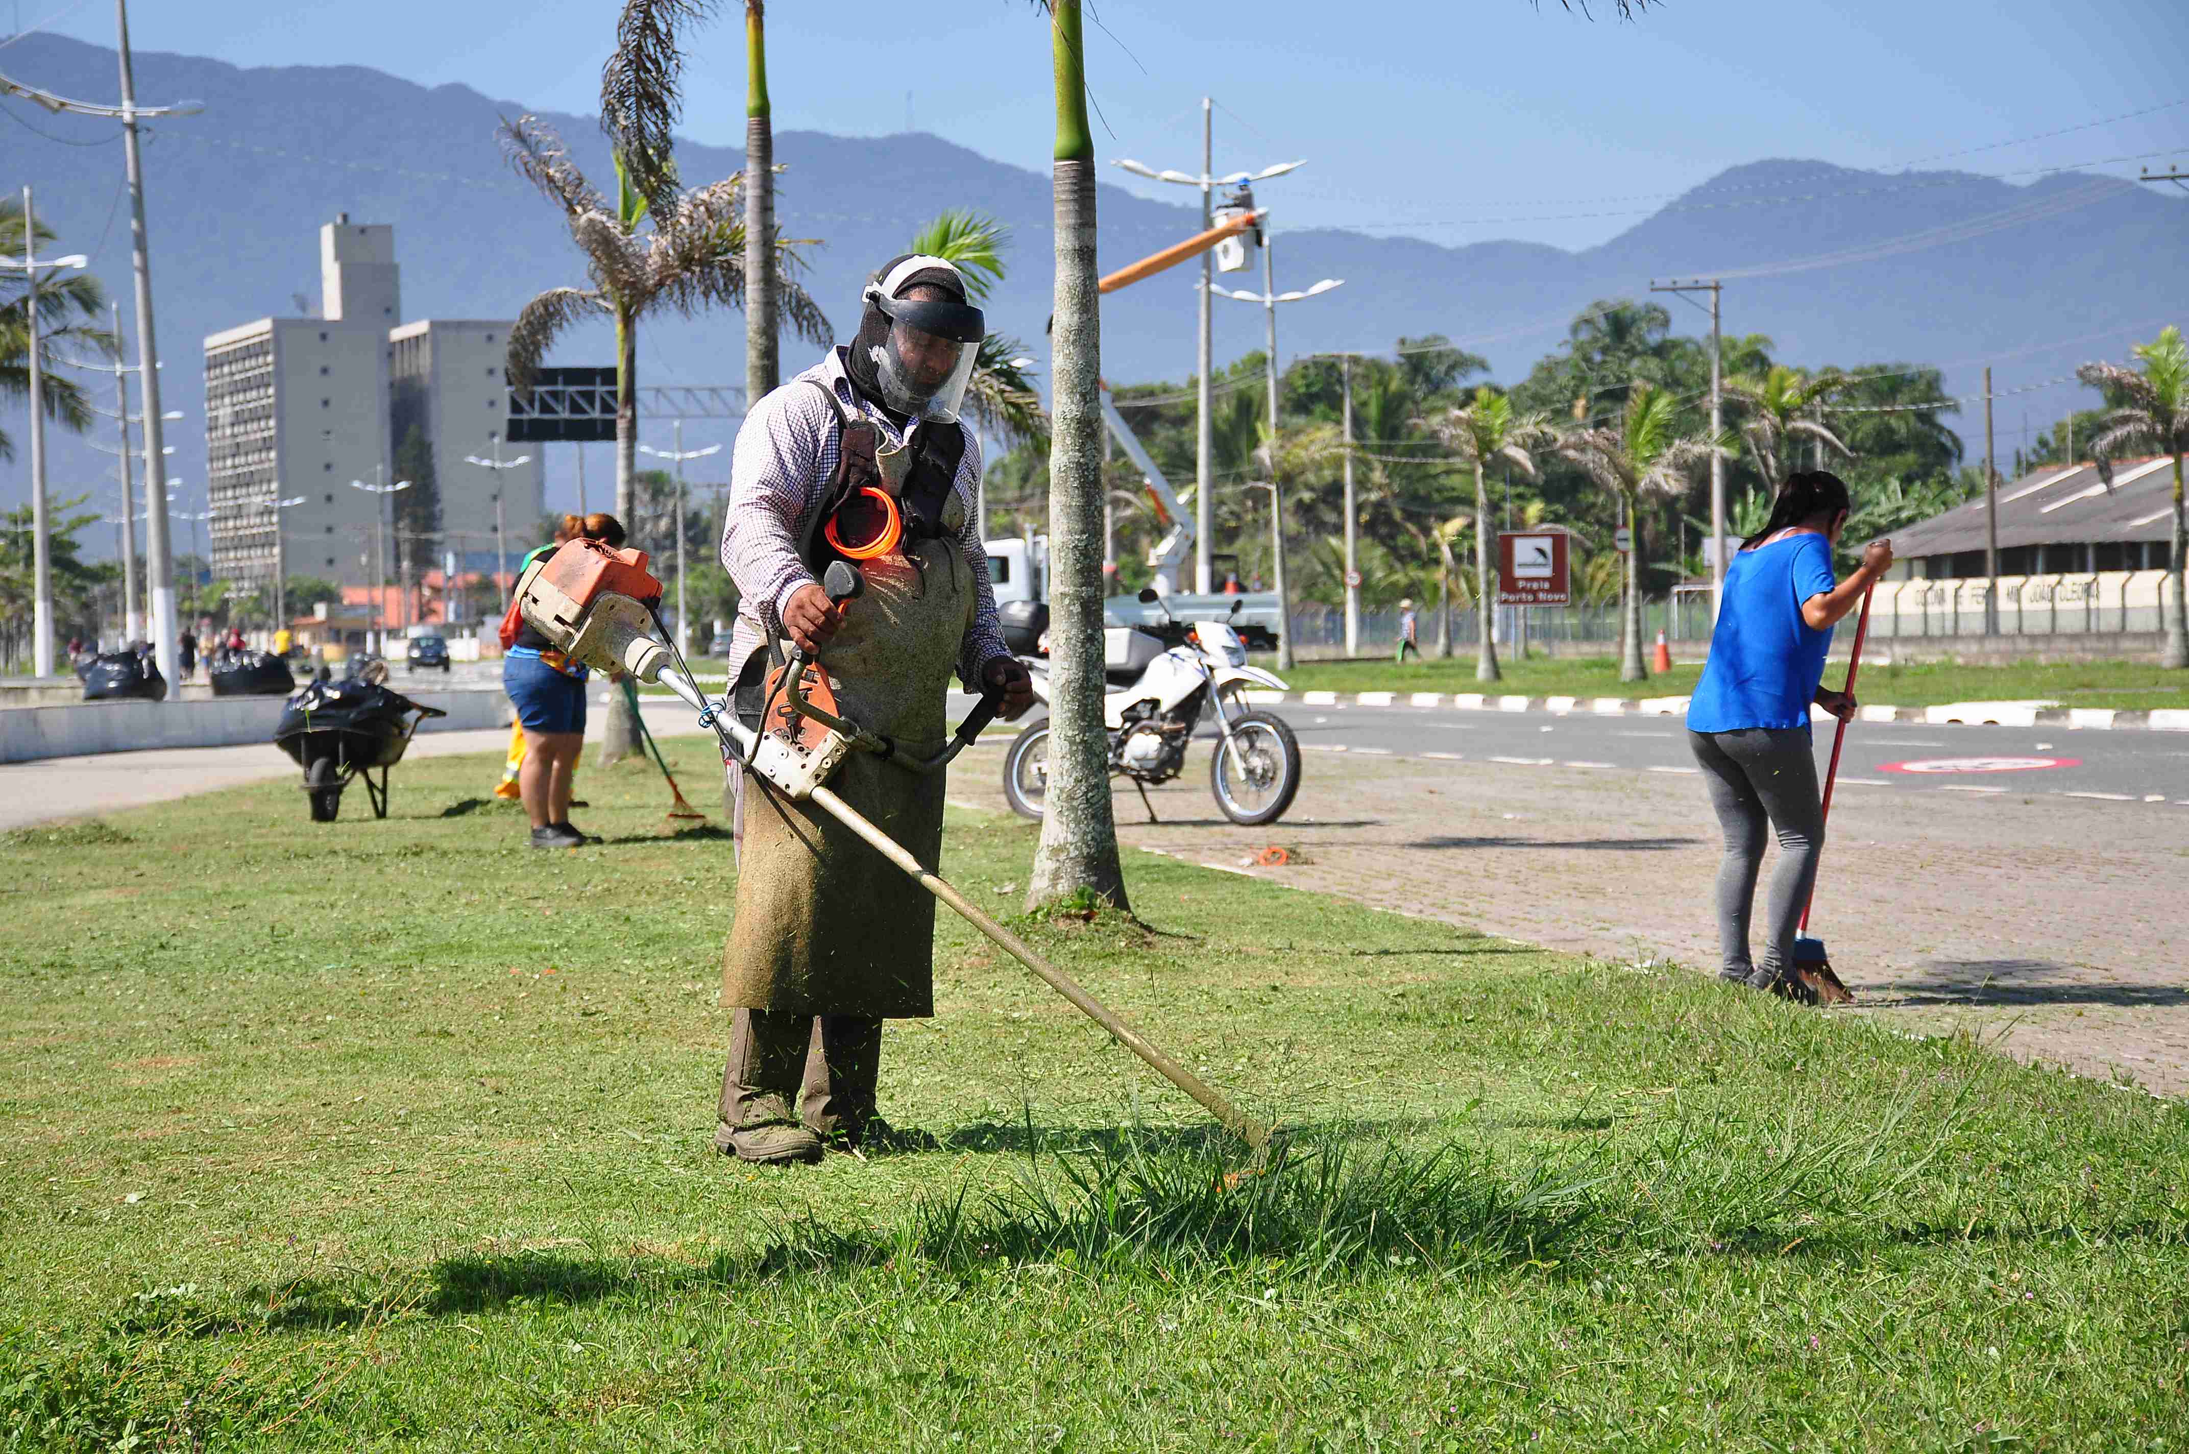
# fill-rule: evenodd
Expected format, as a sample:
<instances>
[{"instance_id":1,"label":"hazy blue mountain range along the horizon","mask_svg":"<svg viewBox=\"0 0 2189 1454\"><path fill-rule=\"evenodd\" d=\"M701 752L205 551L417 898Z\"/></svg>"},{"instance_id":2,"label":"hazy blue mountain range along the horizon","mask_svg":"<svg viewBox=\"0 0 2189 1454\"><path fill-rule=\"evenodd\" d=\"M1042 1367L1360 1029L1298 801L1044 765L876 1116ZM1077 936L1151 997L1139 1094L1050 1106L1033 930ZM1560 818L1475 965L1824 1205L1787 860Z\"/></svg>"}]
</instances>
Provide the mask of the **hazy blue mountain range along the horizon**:
<instances>
[{"instance_id":1,"label":"hazy blue mountain range along the horizon","mask_svg":"<svg viewBox=\"0 0 2189 1454\"><path fill-rule=\"evenodd\" d=\"M63 96L112 99L114 53L53 35L0 50L9 77ZM582 282L560 212L503 162L495 125L523 112L464 85L422 88L357 66L239 68L190 55L138 53L138 99L204 101L190 118L149 123L147 212L162 353L173 364L164 405L188 418L169 436L184 499L201 499L201 339L265 315L317 307L317 228L348 212L396 230L405 318L510 318L538 289ZM129 320L129 217L116 127L48 116L0 99L0 186L35 186L37 210L63 252L94 254ZM613 186L591 116L543 114L595 184ZM1760 131L1760 138L1767 134ZM928 134L845 138L781 131L777 215L806 250L806 287L830 322L856 324L865 274L935 212L961 206L1011 228L1009 278L989 300L989 324L1044 357L1051 191L1046 138L1016 138L1022 164ZM679 145L692 182L742 166L740 149ZM2189 302L2189 199L2090 173L2027 184L1957 173L1872 173L1815 160L1734 166L1664 201L1600 247L1489 241L1445 247L1408 236L1333 228L1283 230L1283 180L1263 186L1272 208L1278 289L1318 278L1344 287L1278 315L1285 357L1313 350L1388 350L1401 335L1445 333L1491 359L1504 381L1565 337L1600 298L1646 296L1653 278L1725 276L1727 333L1767 333L1786 361L1944 364L1957 394L1979 388L1985 361L1996 390L2060 379L2090 357L2178 322ZM1425 177L1408 199L1425 219L1480 212L1464 151L1447 177ZM1182 199L1191 193L1180 188ZM1101 265L1119 267L1197 230L1197 204L1099 197ZM1193 370L1193 278L1180 267L1103 302L1103 372L1112 381L1173 379ZM1259 272L1226 278L1261 289ZM1707 320L1666 300L1683 333ZM1259 307L1217 300L1219 366L1263 346ZM810 350L786 339L786 368ZM641 383L742 383L742 320L718 313L641 328ZM606 328L571 333L549 359L613 361ZM94 377L96 379L96 377ZM105 392L105 390L101 390ZM105 399L101 399L105 403ZM2075 388L2029 388L2003 405L2001 451L2066 407ZM9 431L20 436L22 409ZM1974 412L1957 427L1972 436ZM687 442L714 423L685 427ZM722 434L733 420L720 425ZM665 440L663 440L665 442ZM26 497L26 464L0 466L0 499ZM55 442L55 491L74 493L107 460ZM569 449L549 453L549 504L574 499ZM595 458L604 473L606 451ZM598 480L600 475L595 475ZM598 497L598 495L595 495ZM101 495L103 504L112 504ZM188 508L188 506L186 506ZM186 536L184 536L186 539Z\"/></svg>"}]
</instances>

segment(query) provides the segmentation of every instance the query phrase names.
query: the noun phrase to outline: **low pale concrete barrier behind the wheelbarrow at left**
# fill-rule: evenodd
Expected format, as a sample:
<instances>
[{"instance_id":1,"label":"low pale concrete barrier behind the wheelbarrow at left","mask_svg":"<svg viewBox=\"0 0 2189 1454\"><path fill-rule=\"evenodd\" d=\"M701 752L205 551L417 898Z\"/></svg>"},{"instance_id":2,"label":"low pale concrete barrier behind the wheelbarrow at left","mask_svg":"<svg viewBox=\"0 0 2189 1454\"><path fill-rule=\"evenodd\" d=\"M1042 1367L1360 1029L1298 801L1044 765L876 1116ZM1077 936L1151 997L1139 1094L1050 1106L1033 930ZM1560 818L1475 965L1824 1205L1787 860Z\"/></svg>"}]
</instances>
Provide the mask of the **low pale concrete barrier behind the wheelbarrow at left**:
<instances>
[{"instance_id":1,"label":"low pale concrete barrier behind the wheelbarrow at left","mask_svg":"<svg viewBox=\"0 0 2189 1454\"><path fill-rule=\"evenodd\" d=\"M427 718L418 731L506 727L510 699L493 690L403 692L449 716ZM236 747L271 742L280 696L219 696L210 701L85 701L68 707L0 712L0 762L125 753L151 747Z\"/></svg>"}]
</instances>

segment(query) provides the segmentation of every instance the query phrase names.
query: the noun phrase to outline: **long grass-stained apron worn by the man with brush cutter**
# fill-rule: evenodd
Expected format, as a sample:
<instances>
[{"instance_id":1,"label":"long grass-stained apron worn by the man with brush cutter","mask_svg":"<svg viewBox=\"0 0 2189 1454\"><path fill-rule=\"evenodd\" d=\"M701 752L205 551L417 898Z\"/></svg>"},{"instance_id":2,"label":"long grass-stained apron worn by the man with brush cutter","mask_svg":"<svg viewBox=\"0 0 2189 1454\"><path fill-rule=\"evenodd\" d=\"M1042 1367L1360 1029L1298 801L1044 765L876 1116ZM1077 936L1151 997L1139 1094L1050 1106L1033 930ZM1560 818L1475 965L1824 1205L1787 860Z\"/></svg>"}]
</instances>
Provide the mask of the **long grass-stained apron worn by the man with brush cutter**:
<instances>
[{"instance_id":1,"label":"long grass-stained apron worn by the man with brush cutter","mask_svg":"<svg viewBox=\"0 0 2189 1454\"><path fill-rule=\"evenodd\" d=\"M911 753L948 738L943 694L974 618L974 580L952 495L946 534L865 563L867 591L821 661L841 714ZM937 867L943 775L854 751L830 786L922 865ZM935 1014L935 898L812 804L744 780L738 900L722 950L722 1005L797 1014Z\"/></svg>"}]
</instances>

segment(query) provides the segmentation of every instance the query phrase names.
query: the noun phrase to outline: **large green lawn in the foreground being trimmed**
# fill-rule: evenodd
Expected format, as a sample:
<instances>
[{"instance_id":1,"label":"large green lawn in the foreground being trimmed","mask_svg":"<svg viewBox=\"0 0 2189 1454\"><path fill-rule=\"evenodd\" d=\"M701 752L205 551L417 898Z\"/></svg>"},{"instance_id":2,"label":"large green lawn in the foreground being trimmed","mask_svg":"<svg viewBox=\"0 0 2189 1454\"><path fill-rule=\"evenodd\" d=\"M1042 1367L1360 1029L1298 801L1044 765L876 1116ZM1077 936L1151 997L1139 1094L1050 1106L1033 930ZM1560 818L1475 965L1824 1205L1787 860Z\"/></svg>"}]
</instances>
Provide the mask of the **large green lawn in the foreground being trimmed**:
<instances>
[{"instance_id":1,"label":"large green lawn in the foreground being trimmed","mask_svg":"<svg viewBox=\"0 0 2189 1454\"><path fill-rule=\"evenodd\" d=\"M1138 922L1022 926L1278 1161L946 915L919 1136L755 1172L727 841L589 769L611 841L536 854L497 769L0 843L9 1447L2189 1439L2178 1104L1134 854ZM1031 847L946 872L1011 911Z\"/></svg>"}]
</instances>

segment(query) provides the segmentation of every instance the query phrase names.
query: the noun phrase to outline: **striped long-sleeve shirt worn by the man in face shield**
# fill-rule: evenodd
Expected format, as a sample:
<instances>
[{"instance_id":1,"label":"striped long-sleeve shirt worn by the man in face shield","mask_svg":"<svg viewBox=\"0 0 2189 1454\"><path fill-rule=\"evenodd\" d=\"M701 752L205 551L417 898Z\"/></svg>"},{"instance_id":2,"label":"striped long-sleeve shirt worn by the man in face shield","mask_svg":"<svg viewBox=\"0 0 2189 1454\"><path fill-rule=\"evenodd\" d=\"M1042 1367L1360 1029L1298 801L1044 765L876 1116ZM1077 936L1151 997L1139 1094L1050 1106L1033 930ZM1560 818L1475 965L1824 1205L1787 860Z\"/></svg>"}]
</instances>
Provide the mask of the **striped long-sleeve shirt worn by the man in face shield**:
<instances>
[{"instance_id":1,"label":"striped long-sleeve shirt worn by the man in face shield","mask_svg":"<svg viewBox=\"0 0 2189 1454\"><path fill-rule=\"evenodd\" d=\"M882 409L860 399L843 370L843 348L755 403L738 429L738 447L729 464L729 510L722 517L722 569L738 585L738 626L731 633L731 670L768 631L781 628L784 607L814 576L799 558L799 530L812 510L827 499L827 482L836 473L841 434L836 416L808 379L834 390L845 414L873 420L891 445L904 442ZM959 460L954 488L965 501L965 528L959 550L972 567L974 618L959 646L959 681L981 690L981 668L994 657L1011 655L996 626L996 591L987 578L987 547L981 543L981 440L965 431L965 455ZM766 607L766 620L762 620Z\"/></svg>"}]
</instances>

